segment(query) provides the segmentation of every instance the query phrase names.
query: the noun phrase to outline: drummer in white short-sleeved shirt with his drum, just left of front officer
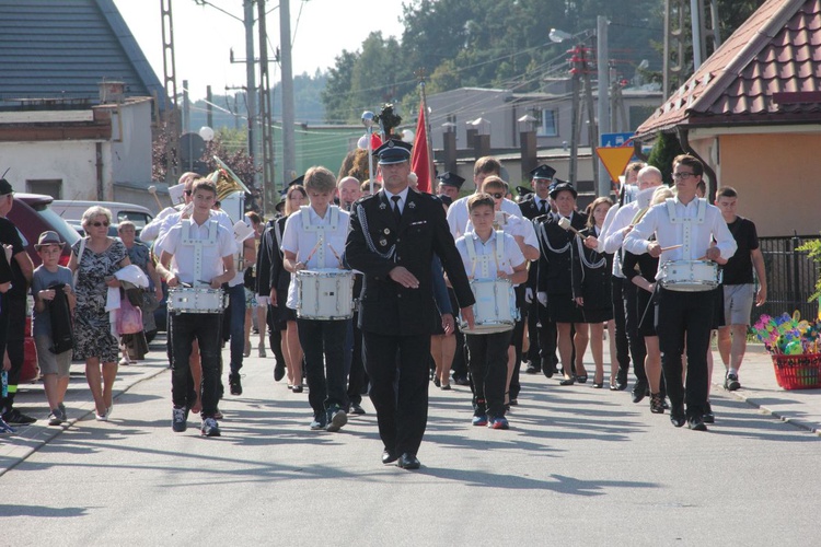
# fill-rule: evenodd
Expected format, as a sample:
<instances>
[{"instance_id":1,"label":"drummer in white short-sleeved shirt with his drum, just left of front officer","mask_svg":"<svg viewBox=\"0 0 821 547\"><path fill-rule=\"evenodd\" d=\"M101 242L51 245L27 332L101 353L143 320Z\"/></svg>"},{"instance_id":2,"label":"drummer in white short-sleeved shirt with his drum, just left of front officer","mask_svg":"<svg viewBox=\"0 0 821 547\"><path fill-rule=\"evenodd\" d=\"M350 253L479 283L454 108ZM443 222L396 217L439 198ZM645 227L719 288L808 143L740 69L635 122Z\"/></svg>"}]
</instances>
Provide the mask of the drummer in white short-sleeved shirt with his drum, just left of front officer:
<instances>
[{"instance_id":1,"label":"drummer in white short-sleeved shirt with his drum, just left of front officer","mask_svg":"<svg viewBox=\"0 0 821 547\"><path fill-rule=\"evenodd\" d=\"M282 233L284 266L293 274L286 305L297 311L311 429L339 431L348 422L344 353L354 316L354 277L342 263L349 214L331 205L336 177L325 167L308 170L304 187L311 205L288 217Z\"/></svg>"}]
</instances>

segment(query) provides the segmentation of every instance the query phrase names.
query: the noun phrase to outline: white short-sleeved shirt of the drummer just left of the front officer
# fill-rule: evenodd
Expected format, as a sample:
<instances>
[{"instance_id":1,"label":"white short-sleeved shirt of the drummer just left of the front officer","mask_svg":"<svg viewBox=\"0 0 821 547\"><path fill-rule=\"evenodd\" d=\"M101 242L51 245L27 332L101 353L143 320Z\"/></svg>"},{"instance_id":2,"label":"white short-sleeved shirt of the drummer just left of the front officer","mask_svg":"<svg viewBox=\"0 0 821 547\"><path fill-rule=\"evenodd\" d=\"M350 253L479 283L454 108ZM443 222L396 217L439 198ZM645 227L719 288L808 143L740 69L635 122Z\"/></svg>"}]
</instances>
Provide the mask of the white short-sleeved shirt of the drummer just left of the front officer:
<instances>
[{"instance_id":1,"label":"white short-sleeved shirt of the drummer just left of the front officer","mask_svg":"<svg viewBox=\"0 0 821 547\"><path fill-rule=\"evenodd\" d=\"M407 196L407 193L405 196ZM305 229L302 222L305 212L309 216L310 226L324 226L325 242L322 245L317 246L320 231L311 230L310 226ZM332 224L332 219L336 219L335 224ZM297 261L304 263L305 269L309 270L342 269L337 256L342 258L345 252L349 221L350 214L336 206L328 206L324 219L316 214L313 207L302 206L298 212L288 217L285 223L282 251L288 251L297 255ZM314 247L316 248L315 252L313 252ZM308 258L309 255L311 255L310 259ZM299 305L296 275L291 276L291 283L288 286L286 305L291 310L296 310Z\"/></svg>"}]
</instances>

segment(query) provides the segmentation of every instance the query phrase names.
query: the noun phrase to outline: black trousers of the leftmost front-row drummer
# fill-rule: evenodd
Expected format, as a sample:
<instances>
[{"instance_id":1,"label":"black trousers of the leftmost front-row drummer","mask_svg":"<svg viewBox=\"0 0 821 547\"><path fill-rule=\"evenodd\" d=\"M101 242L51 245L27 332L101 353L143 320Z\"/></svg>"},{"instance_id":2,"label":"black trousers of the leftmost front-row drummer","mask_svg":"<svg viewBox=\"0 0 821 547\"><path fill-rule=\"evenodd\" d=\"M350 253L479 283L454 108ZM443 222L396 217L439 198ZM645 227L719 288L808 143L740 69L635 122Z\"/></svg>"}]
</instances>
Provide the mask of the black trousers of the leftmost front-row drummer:
<instances>
[{"instance_id":1,"label":"black trousers of the leftmost front-row drummer","mask_svg":"<svg viewBox=\"0 0 821 547\"><path fill-rule=\"evenodd\" d=\"M174 406L186 408L196 401L194 377L188 358L192 344L199 342L203 364L203 418L212 418L220 398L220 323L219 313L171 313L171 396Z\"/></svg>"}]
</instances>

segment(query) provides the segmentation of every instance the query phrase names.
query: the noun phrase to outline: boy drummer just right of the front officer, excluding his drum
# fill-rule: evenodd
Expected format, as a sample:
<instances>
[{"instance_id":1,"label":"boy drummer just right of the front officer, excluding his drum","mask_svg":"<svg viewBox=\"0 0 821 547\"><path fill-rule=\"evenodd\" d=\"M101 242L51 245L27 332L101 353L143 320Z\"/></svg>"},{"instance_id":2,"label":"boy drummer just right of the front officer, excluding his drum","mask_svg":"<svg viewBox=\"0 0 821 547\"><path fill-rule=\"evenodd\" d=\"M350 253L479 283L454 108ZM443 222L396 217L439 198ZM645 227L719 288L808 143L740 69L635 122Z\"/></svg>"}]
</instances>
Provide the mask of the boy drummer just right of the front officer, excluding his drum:
<instances>
[{"instance_id":1,"label":"boy drummer just right of the front officer, excluding his drum","mask_svg":"<svg viewBox=\"0 0 821 547\"><path fill-rule=\"evenodd\" d=\"M498 177L494 182L501 182ZM490 186L489 179L485 188ZM496 186L489 189L498 189ZM501 198L499 198L500 200ZM528 279L524 255L512 235L494 230L494 197L474 194L467 199L473 231L456 240L456 249L465 270L473 279L509 279L523 283ZM505 389L508 377L508 348L513 329L492 334L466 333L467 363L473 377L474 426L508 429L505 418Z\"/></svg>"}]
</instances>

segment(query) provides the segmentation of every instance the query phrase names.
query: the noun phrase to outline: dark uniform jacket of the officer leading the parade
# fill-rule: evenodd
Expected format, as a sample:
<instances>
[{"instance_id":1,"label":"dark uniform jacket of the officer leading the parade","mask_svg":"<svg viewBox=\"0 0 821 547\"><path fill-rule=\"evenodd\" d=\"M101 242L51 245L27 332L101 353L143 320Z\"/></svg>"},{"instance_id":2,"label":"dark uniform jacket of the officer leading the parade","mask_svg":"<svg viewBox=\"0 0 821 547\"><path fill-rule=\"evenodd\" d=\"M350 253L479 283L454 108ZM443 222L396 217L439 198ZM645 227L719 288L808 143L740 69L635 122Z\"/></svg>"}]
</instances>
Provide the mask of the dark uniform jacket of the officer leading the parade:
<instances>
[{"instance_id":1,"label":"dark uniform jacket of the officer leading the parade","mask_svg":"<svg viewBox=\"0 0 821 547\"><path fill-rule=\"evenodd\" d=\"M362 330L381 335L431 331L433 254L439 256L450 278L460 307L472 305L474 298L467 275L441 201L427 194L408 191L398 225L384 191L357 202L350 217L345 255L351 268L365 274L359 301ZM388 274L396 266L416 276L419 288L405 289L389 278Z\"/></svg>"}]
</instances>

